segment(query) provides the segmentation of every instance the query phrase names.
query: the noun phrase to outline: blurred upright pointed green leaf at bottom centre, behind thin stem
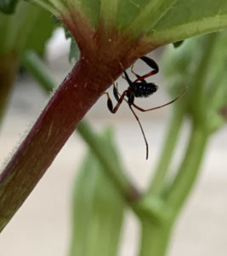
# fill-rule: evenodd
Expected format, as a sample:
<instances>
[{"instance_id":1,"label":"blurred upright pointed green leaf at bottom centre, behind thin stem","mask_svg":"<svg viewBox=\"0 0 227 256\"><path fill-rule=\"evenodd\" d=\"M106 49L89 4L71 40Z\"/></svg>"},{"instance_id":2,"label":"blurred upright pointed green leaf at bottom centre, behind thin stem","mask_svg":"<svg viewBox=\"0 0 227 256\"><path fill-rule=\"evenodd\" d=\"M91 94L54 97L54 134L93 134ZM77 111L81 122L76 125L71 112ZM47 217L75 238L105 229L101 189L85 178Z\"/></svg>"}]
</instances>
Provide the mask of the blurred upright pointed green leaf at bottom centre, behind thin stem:
<instances>
[{"instance_id":1,"label":"blurred upright pointed green leaf at bottom centre, behind thin stem","mask_svg":"<svg viewBox=\"0 0 227 256\"><path fill-rule=\"evenodd\" d=\"M113 148L110 136L107 131L102 137ZM82 162L74 190L71 256L116 256L124 204L102 168L91 152Z\"/></svg>"}]
</instances>

